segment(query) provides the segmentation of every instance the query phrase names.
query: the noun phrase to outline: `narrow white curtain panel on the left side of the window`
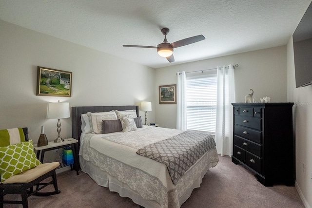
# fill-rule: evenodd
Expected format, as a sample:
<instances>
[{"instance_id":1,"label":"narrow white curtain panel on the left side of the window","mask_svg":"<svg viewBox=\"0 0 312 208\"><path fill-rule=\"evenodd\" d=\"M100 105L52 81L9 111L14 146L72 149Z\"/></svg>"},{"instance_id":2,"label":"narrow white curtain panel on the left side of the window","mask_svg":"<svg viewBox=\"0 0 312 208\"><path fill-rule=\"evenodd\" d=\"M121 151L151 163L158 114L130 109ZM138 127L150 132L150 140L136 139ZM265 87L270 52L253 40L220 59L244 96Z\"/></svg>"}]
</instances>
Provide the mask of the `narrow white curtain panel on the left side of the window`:
<instances>
[{"instance_id":1,"label":"narrow white curtain panel on the left side of the window","mask_svg":"<svg viewBox=\"0 0 312 208\"><path fill-rule=\"evenodd\" d=\"M186 131L186 76L184 71L177 73L176 88L176 129Z\"/></svg>"}]
</instances>

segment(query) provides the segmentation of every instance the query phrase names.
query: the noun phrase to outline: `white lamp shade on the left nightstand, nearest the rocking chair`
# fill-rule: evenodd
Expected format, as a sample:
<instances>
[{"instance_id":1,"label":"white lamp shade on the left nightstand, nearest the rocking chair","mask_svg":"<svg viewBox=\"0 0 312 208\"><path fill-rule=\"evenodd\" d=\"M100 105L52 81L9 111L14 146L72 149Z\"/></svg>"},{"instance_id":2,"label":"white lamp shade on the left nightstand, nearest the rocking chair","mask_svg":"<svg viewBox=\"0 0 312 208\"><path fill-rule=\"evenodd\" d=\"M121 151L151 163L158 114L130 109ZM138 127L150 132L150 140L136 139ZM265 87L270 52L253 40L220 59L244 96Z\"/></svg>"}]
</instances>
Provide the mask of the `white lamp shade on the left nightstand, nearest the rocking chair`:
<instances>
[{"instance_id":1,"label":"white lamp shade on the left nightstand, nearest the rocking chair","mask_svg":"<svg viewBox=\"0 0 312 208\"><path fill-rule=\"evenodd\" d=\"M48 103L47 118L69 117L69 103Z\"/></svg>"}]
</instances>

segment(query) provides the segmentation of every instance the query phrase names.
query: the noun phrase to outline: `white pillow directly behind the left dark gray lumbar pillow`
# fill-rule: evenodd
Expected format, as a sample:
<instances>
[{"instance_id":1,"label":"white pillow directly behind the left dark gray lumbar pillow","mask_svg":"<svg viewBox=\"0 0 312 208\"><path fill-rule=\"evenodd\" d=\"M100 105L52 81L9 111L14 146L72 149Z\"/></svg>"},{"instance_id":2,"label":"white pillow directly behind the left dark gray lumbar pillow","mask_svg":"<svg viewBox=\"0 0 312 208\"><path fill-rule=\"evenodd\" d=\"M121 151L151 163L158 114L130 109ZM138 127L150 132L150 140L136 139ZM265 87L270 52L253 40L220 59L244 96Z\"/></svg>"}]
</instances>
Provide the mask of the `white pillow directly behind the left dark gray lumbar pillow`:
<instances>
[{"instance_id":1,"label":"white pillow directly behind the left dark gray lumbar pillow","mask_svg":"<svg viewBox=\"0 0 312 208\"><path fill-rule=\"evenodd\" d=\"M115 111L100 112L100 113L87 113L89 117L91 132L102 133L103 120L117 120Z\"/></svg>"}]
</instances>

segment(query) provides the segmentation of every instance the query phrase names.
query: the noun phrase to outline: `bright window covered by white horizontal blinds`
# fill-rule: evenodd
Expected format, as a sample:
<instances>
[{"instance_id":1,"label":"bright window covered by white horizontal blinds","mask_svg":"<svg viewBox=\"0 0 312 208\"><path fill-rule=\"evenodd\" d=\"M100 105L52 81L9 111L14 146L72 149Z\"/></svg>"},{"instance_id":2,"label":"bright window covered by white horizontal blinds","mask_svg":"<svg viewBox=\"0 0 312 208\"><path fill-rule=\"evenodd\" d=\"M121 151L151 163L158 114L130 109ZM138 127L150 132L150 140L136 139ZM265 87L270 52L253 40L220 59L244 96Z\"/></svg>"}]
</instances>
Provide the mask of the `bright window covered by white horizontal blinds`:
<instances>
[{"instance_id":1,"label":"bright window covered by white horizontal blinds","mask_svg":"<svg viewBox=\"0 0 312 208\"><path fill-rule=\"evenodd\" d=\"M187 129L215 133L215 75L186 80Z\"/></svg>"}]
</instances>

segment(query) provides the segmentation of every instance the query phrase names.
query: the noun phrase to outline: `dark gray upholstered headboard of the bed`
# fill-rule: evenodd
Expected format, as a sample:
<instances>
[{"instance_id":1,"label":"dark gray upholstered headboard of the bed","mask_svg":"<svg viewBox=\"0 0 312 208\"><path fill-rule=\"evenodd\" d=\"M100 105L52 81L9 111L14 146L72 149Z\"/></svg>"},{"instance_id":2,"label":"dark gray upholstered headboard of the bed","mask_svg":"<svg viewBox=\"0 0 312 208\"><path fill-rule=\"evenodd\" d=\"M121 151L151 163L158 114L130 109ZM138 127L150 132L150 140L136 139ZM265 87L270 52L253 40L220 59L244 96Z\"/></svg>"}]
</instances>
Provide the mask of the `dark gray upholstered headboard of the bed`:
<instances>
[{"instance_id":1,"label":"dark gray upholstered headboard of the bed","mask_svg":"<svg viewBox=\"0 0 312 208\"><path fill-rule=\"evenodd\" d=\"M95 112L106 112L106 111L125 111L125 110L136 110L138 116L137 105L125 105L125 106L81 106L72 107L72 137L80 140L81 135L81 114L83 113L95 113Z\"/></svg>"}]
</instances>

